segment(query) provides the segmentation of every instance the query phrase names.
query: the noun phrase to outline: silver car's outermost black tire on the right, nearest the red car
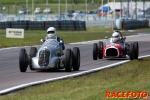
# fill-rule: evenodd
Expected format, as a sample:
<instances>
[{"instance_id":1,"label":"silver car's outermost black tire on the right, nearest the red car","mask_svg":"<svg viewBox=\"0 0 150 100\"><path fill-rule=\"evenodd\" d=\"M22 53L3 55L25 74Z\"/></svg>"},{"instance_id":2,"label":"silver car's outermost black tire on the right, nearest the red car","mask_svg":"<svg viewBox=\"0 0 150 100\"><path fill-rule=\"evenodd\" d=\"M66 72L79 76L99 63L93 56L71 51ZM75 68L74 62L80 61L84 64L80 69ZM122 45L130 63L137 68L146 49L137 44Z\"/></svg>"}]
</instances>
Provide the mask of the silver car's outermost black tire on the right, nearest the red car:
<instances>
[{"instance_id":1,"label":"silver car's outermost black tire on the right, nearest the red car","mask_svg":"<svg viewBox=\"0 0 150 100\"><path fill-rule=\"evenodd\" d=\"M78 47L73 48L73 54L72 54L72 66L74 71L78 71L80 68L80 50Z\"/></svg>"}]
</instances>

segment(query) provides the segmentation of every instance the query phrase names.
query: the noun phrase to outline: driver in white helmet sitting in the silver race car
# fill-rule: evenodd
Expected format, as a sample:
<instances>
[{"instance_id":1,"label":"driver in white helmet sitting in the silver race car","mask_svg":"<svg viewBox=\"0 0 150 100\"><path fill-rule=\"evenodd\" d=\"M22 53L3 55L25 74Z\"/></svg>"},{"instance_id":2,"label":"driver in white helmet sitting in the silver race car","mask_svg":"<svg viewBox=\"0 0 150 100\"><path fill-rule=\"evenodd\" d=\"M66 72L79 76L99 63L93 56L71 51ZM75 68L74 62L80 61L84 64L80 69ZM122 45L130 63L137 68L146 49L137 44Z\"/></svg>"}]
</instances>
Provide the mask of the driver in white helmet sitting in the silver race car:
<instances>
[{"instance_id":1,"label":"driver in white helmet sitting in the silver race car","mask_svg":"<svg viewBox=\"0 0 150 100\"><path fill-rule=\"evenodd\" d=\"M49 27L47 29L47 36L45 37L45 40L47 40L47 39L57 39L57 41L62 45L62 49L63 50L65 49L64 41L63 41L63 39L56 36L56 29L54 27ZM44 41L43 41L43 43L44 43Z\"/></svg>"}]
</instances>

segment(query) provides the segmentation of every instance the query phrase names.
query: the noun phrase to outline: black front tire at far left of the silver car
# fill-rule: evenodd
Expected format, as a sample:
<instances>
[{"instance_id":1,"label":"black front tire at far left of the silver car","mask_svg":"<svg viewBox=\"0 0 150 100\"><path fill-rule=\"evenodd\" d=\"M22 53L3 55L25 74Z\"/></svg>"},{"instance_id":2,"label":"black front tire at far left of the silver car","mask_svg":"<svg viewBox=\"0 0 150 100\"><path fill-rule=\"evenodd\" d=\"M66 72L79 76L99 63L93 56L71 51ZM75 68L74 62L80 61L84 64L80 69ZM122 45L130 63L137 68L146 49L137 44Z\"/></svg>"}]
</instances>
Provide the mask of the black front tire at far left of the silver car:
<instances>
[{"instance_id":1,"label":"black front tire at far left of the silver car","mask_svg":"<svg viewBox=\"0 0 150 100\"><path fill-rule=\"evenodd\" d=\"M25 49L21 49L19 53L19 68L20 72L26 72L28 67L28 58Z\"/></svg>"}]
</instances>

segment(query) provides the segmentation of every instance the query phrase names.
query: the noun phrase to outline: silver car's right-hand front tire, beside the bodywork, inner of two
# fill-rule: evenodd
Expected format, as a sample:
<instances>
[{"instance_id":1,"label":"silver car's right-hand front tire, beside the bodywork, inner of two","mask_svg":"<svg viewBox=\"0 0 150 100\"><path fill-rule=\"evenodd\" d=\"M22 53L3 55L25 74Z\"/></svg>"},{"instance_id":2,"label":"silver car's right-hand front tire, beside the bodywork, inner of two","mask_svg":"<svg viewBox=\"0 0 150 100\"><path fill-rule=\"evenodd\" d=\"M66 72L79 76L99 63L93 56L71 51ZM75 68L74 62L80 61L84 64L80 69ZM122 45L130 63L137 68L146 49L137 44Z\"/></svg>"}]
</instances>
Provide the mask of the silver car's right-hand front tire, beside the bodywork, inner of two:
<instances>
[{"instance_id":1,"label":"silver car's right-hand front tire, beside the bodywork, inner of two","mask_svg":"<svg viewBox=\"0 0 150 100\"><path fill-rule=\"evenodd\" d=\"M71 49L66 50L65 70L66 70L66 72L71 72L72 71L72 51L71 51Z\"/></svg>"}]
</instances>

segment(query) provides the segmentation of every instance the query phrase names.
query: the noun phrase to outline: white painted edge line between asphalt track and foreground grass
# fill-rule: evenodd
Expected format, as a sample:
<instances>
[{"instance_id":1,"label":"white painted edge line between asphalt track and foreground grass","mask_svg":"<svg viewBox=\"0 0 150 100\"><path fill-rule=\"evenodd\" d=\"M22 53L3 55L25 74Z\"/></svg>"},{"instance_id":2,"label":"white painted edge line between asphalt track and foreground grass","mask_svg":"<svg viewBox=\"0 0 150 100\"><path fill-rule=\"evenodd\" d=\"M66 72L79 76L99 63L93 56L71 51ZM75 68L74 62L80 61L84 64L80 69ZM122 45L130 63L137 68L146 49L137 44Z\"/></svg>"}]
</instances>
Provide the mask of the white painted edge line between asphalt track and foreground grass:
<instances>
[{"instance_id":1,"label":"white painted edge line between asphalt track and foreground grass","mask_svg":"<svg viewBox=\"0 0 150 100\"><path fill-rule=\"evenodd\" d=\"M144 58L144 57L150 57L150 55L140 56L139 59ZM1 90L0 95L7 94L7 93L13 92L15 90L19 90L19 89L26 88L26 87L33 86L33 85L38 85L38 84L42 84L42 83L46 83L46 82L52 82L52 81L56 81L56 80L60 80L60 79L66 79L66 78L69 78L69 77L76 77L76 76L88 74L88 73L91 73L91 72L99 71L99 70L102 70L102 69L111 68L111 67L129 62L129 61L130 60L121 61L121 62L118 62L118 63L102 66L102 67L95 68L95 69L90 69L90 70L87 70L87 71L83 71L83 72L79 72L79 73L75 73L75 74L71 74L71 75L66 75L66 76L46 79L46 80L42 80L42 81L35 81L35 82L31 82L31 83L21 84L21 85L18 85L18 86L14 86L14 87L11 87L11 88L8 88L8 89Z\"/></svg>"}]
</instances>

